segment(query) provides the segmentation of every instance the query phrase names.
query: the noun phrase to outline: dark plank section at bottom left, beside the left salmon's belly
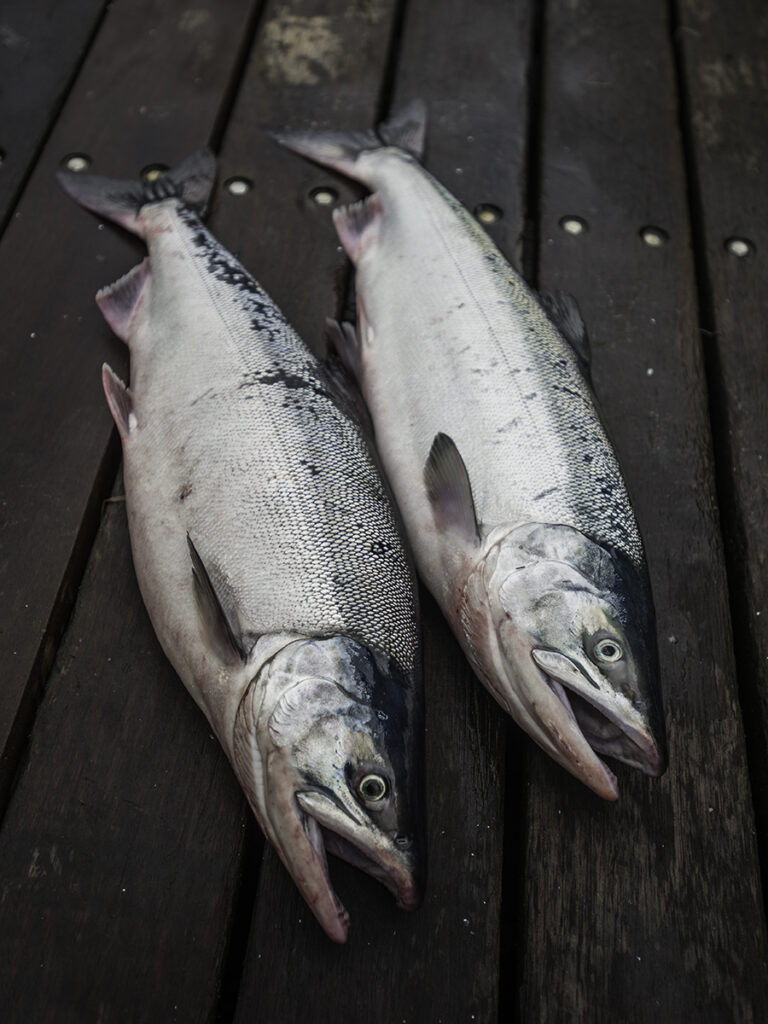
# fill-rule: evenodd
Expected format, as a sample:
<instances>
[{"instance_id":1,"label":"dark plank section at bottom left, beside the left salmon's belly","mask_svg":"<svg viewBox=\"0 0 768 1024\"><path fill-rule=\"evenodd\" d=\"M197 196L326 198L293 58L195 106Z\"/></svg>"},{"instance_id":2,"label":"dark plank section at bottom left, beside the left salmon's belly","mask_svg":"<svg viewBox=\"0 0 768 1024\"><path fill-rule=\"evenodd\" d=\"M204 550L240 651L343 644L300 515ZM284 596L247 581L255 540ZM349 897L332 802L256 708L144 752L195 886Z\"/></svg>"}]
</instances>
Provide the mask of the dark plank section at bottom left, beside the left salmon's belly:
<instances>
[{"instance_id":1,"label":"dark plank section at bottom left, beside the left salmon's belly","mask_svg":"<svg viewBox=\"0 0 768 1024\"><path fill-rule=\"evenodd\" d=\"M9 1022L207 1021L221 983L250 812L106 509L0 829Z\"/></svg>"}]
</instances>

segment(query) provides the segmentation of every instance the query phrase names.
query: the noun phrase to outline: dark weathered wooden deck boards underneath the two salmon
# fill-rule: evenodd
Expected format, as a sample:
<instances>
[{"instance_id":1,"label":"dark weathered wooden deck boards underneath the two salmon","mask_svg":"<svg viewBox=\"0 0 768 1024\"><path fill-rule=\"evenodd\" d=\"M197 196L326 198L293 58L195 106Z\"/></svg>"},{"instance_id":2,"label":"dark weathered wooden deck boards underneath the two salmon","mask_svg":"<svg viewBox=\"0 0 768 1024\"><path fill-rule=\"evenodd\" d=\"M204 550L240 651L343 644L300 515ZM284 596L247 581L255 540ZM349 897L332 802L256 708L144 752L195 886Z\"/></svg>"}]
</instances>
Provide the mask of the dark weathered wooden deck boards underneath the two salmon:
<instances>
[{"instance_id":1,"label":"dark weathered wooden deck boards underneath the two salmon","mask_svg":"<svg viewBox=\"0 0 768 1024\"><path fill-rule=\"evenodd\" d=\"M758 0L6 0L3 1021L768 1020L767 48ZM140 246L54 172L82 154L135 176L210 141L214 232L317 345L349 274L312 193L353 193L258 126L366 127L417 95L430 170L582 306L671 761L601 803L505 720L425 598L427 896L406 914L333 865L340 948L143 610L99 375L127 353L93 302Z\"/></svg>"}]
</instances>

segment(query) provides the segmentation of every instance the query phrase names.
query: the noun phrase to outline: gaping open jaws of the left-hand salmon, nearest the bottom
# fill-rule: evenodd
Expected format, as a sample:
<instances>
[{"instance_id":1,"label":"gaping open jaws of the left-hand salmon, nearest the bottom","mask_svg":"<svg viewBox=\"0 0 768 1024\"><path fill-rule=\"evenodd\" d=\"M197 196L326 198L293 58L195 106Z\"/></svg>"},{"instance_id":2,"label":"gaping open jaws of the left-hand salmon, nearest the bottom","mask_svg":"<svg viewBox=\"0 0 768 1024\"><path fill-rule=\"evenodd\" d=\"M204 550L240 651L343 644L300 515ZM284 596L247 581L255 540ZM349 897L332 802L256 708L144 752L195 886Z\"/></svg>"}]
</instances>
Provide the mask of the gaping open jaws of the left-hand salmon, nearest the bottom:
<instances>
[{"instance_id":1,"label":"gaping open jaws of the left-hand salmon, nearest the bottom","mask_svg":"<svg viewBox=\"0 0 768 1024\"><path fill-rule=\"evenodd\" d=\"M295 795L303 831L313 854L314 887L325 898L310 902L313 913L328 936L345 942L349 914L331 884L328 853L347 861L384 885L397 906L414 910L421 903L421 887L414 865L413 843L406 837L389 837L364 817L349 811L340 801L317 790L300 790ZM302 880L296 876L304 892Z\"/></svg>"}]
</instances>

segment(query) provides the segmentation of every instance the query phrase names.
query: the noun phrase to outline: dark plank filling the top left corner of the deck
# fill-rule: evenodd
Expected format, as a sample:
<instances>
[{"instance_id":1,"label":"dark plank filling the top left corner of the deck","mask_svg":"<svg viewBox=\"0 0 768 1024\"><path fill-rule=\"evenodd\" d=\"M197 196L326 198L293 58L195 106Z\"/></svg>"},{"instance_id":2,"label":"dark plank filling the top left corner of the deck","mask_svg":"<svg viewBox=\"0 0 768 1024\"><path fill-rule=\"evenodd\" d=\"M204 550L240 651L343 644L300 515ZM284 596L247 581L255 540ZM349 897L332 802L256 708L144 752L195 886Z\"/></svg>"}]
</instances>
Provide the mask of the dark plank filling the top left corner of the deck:
<instances>
[{"instance_id":1,"label":"dark plank filling the top left corner of the deck","mask_svg":"<svg viewBox=\"0 0 768 1024\"><path fill-rule=\"evenodd\" d=\"M5 0L0 15L0 225L4 225L105 6Z\"/></svg>"}]
</instances>

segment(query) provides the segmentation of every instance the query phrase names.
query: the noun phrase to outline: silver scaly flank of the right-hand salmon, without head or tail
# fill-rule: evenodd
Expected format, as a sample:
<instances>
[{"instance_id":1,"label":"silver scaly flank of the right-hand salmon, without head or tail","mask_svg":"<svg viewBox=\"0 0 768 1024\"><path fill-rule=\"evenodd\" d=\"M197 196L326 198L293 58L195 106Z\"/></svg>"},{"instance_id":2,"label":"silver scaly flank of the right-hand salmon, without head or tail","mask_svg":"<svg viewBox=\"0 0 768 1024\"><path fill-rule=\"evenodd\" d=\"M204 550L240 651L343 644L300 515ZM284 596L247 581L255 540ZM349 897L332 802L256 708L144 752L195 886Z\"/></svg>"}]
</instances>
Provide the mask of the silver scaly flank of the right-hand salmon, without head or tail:
<instances>
[{"instance_id":1,"label":"silver scaly flank of the right-hand salmon, without head or tail","mask_svg":"<svg viewBox=\"0 0 768 1024\"><path fill-rule=\"evenodd\" d=\"M429 343L382 344L376 355L377 373L399 381L407 395L409 382L430 381L429 398L412 402L415 443L395 476L404 481L420 474L452 408L450 432L483 524L570 523L641 565L627 488L570 346L523 282L510 275L474 218L423 168L389 151L379 155L372 183L387 217L377 236L376 266L365 257L357 266L367 323L375 323L377 336L391 337L401 321L429 323L435 303ZM447 223L443 204L453 214ZM416 246L430 254L418 293L410 285ZM374 284L382 265L386 284ZM440 288L446 280L447 307ZM395 419L388 398L374 419L380 437L383 423Z\"/></svg>"}]
</instances>

